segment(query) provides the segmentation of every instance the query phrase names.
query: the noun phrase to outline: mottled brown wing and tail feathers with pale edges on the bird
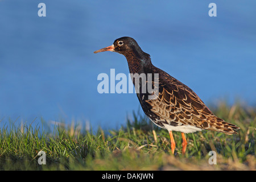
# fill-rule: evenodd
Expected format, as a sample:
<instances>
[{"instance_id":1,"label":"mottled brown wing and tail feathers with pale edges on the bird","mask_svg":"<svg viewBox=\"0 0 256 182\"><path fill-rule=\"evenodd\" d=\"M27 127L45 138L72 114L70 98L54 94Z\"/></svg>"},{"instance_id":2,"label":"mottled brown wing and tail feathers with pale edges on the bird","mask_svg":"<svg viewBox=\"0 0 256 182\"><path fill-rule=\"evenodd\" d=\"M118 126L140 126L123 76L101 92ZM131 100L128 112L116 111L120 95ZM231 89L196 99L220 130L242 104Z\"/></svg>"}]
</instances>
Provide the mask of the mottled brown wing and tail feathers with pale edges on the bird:
<instances>
[{"instance_id":1,"label":"mottled brown wing and tail feathers with pale edges on the bird","mask_svg":"<svg viewBox=\"0 0 256 182\"><path fill-rule=\"evenodd\" d=\"M162 70L152 69L160 74ZM167 123L176 126L196 126L200 129L236 134L236 125L216 117L193 90L170 75L159 75L159 96L156 100L147 100L151 111Z\"/></svg>"}]
</instances>

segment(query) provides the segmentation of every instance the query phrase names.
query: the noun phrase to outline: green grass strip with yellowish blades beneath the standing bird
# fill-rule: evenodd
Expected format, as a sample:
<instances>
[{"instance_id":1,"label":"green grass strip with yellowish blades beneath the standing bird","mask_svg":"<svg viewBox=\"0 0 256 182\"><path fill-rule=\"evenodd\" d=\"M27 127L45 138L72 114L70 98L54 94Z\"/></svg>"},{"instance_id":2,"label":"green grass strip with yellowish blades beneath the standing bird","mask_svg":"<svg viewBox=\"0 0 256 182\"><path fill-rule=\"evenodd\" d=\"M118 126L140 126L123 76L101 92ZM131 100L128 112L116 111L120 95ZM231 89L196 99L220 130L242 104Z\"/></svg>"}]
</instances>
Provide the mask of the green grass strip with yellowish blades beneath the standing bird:
<instances>
[{"instance_id":1,"label":"green grass strip with yellowish blades beneath the standing bird","mask_svg":"<svg viewBox=\"0 0 256 182\"><path fill-rule=\"evenodd\" d=\"M187 134L187 152L181 155L181 134L174 132L175 154L171 154L166 130L146 117L134 114L133 121L119 130L96 133L79 127L42 125L0 127L0 170L255 170L256 108L225 104L212 109L239 126L239 135L213 131ZM12 123L10 121L10 123ZM46 152L46 165L39 165L39 151ZM209 151L217 152L210 165Z\"/></svg>"}]
</instances>

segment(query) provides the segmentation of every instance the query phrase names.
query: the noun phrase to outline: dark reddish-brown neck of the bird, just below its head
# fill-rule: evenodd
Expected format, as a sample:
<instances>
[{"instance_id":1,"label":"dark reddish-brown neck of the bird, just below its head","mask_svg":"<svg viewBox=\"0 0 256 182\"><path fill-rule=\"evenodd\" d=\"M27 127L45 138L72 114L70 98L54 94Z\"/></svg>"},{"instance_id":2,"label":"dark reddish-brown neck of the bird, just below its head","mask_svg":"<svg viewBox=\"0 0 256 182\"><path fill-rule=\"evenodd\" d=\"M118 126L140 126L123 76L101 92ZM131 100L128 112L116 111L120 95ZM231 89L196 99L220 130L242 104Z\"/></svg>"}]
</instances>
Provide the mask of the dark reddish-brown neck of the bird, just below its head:
<instances>
[{"instance_id":1,"label":"dark reddish-brown neck of the bird, just below its head","mask_svg":"<svg viewBox=\"0 0 256 182\"><path fill-rule=\"evenodd\" d=\"M125 55L129 65L130 73L144 73L145 68L151 67L150 55L147 53L126 52Z\"/></svg>"}]
</instances>

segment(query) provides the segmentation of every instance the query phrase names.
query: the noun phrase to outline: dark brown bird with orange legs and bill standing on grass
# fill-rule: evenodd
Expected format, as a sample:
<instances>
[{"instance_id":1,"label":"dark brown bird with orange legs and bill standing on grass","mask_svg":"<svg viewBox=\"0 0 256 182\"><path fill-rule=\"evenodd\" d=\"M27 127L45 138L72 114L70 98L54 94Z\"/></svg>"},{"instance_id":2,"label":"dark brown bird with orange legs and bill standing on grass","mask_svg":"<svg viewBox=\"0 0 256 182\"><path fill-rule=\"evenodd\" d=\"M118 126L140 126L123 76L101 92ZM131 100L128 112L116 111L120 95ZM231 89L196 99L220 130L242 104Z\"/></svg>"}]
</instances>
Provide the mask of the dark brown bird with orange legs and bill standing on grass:
<instances>
[{"instance_id":1,"label":"dark brown bird with orange legs and bill standing on grass","mask_svg":"<svg viewBox=\"0 0 256 182\"><path fill-rule=\"evenodd\" d=\"M201 130L218 131L228 135L238 134L236 125L225 122L209 110L204 102L187 85L172 77L151 63L151 57L143 52L136 40L128 36L116 39L108 46L94 53L112 51L126 57L130 74L155 75L146 81L139 80L137 97L142 110L148 118L162 129L166 129L171 139L171 152L175 152L175 140L172 131L178 131L182 137L182 154L185 155L187 139L185 134ZM156 79L155 79L156 78ZM156 87L158 92L142 92L145 85ZM150 98L150 96L154 96Z\"/></svg>"}]
</instances>

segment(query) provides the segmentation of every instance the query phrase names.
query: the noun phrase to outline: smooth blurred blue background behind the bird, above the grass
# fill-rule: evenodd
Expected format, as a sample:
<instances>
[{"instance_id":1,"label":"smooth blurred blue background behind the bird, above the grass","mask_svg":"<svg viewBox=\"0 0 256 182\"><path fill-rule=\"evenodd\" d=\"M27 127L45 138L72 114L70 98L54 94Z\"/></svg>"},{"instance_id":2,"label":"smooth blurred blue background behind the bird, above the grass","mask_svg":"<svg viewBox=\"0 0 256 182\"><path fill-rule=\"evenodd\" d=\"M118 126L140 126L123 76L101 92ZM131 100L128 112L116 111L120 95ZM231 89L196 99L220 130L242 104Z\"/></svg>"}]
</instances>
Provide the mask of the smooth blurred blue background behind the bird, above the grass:
<instances>
[{"instance_id":1,"label":"smooth blurred blue background behind the bird, above the grass","mask_svg":"<svg viewBox=\"0 0 256 182\"><path fill-rule=\"evenodd\" d=\"M46 17L38 4L46 4ZM93 53L131 36L152 63L205 104L256 100L256 1L0 1L0 124L125 125L135 94L100 94L100 73L125 73L124 56Z\"/></svg>"}]
</instances>

